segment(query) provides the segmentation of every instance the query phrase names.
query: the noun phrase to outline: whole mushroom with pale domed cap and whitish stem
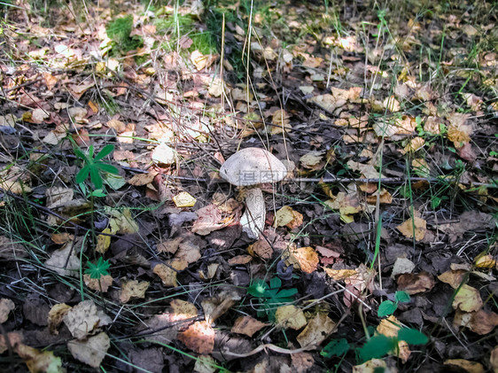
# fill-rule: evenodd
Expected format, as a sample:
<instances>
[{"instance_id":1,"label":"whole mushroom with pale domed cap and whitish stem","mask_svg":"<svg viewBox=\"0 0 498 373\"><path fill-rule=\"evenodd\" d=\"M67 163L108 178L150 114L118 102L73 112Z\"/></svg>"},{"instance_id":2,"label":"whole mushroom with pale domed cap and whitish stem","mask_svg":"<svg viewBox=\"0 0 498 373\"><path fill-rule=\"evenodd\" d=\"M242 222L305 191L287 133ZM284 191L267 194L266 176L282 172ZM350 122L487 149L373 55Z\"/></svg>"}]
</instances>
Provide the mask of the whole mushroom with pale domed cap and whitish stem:
<instances>
[{"instance_id":1,"label":"whole mushroom with pale domed cap and whitish stem","mask_svg":"<svg viewBox=\"0 0 498 373\"><path fill-rule=\"evenodd\" d=\"M256 239L264 229L266 208L261 183L276 183L287 175L287 168L272 153L246 148L233 154L220 167L223 179L237 187L253 187L245 192L245 212L240 218L242 231Z\"/></svg>"}]
</instances>

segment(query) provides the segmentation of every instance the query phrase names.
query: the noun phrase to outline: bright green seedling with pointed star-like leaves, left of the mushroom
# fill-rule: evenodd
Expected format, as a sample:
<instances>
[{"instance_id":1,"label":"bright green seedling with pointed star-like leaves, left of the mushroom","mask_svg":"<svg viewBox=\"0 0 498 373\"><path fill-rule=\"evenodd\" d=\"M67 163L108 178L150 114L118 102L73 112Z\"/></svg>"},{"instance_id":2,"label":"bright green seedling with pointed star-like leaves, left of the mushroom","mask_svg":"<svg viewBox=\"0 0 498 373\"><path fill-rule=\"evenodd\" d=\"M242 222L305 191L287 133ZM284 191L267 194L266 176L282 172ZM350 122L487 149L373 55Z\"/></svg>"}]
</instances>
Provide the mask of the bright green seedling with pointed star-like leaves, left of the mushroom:
<instances>
[{"instance_id":1,"label":"bright green seedling with pointed star-like leaves, left of the mushroom","mask_svg":"<svg viewBox=\"0 0 498 373\"><path fill-rule=\"evenodd\" d=\"M104 146L100 152L97 153L95 158L93 158L94 148L93 145L89 146L88 154L82 152L81 149L75 148L74 153L78 158L82 159L84 162L84 166L80 170L80 172L76 175L76 183L84 183L85 180L90 177L91 183L95 186L95 192L100 190L102 193L102 172L107 172L110 174L118 174L118 168L114 167L109 163L103 162L101 159L104 159L105 156L109 155L114 150L114 145L107 144ZM97 197L97 195L96 195Z\"/></svg>"}]
</instances>

